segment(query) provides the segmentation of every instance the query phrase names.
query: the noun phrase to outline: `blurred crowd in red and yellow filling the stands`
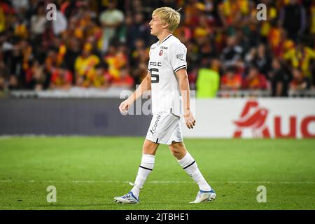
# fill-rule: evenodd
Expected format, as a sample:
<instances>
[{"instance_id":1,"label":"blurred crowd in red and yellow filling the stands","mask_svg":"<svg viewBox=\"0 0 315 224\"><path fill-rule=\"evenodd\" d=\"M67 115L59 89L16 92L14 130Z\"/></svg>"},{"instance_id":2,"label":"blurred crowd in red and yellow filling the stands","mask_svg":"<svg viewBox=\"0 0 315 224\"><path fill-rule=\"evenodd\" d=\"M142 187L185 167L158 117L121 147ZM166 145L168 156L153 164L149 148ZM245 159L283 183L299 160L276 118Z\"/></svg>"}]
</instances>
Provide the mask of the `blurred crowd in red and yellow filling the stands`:
<instances>
[{"instance_id":1,"label":"blurred crowd in red and yellow filling the stands","mask_svg":"<svg viewBox=\"0 0 315 224\"><path fill-rule=\"evenodd\" d=\"M257 18L259 3L267 20ZM174 35L188 48L190 87L199 97L314 89L312 0L0 0L0 92L134 88L158 41L148 22L161 6L183 8Z\"/></svg>"}]
</instances>

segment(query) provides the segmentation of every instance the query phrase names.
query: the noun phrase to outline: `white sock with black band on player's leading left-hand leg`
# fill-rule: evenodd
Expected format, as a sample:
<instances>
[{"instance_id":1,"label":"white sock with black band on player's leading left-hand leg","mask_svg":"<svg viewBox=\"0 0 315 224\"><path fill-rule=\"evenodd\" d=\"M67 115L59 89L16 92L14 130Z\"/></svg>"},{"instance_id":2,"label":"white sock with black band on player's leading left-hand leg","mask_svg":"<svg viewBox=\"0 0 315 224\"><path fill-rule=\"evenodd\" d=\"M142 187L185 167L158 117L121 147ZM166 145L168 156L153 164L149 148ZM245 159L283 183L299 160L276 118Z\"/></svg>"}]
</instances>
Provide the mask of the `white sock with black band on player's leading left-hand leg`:
<instances>
[{"instance_id":1,"label":"white sock with black band on player's leading left-hand leg","mask_svg":"<svg viewBox=\"0 0 315 224\"><path fill-rule=\"evenodd\" d=\"M136 181L134 181L134 188L132 188L132 193L135 197L139 198L139 193L144 186L144 182L148 178L148 175L152 172L155 162L155 155L143 154L141 165L139 166Z\"/></svg>"}]
</instances>

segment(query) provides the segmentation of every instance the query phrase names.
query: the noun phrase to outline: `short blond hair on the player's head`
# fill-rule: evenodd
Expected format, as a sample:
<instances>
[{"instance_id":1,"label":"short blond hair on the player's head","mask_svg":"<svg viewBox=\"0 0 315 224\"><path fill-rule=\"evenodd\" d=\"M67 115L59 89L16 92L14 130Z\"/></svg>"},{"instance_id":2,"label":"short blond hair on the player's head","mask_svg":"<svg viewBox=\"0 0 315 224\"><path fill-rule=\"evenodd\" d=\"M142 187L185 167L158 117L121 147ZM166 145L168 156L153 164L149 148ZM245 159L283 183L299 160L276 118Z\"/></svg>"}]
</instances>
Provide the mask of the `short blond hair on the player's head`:
<instances>
[{"instance_id":1,"label":"short blond hair on the player's head","mask_svg":"<svg viewBox=\"0 0 315 224\"><path fill-rule=\"evenodd\" d=\"M181 8L179 10L181 10ZM160 20L162 20L162 22L165 22L169 25L167 29L169 29L170 32L174 32L181 21L179 10L174 10L173 8L169 7L161 7L155 9L152 13L152 16L156 15L158 18L160 18Z\"/></svg>"}]
</instances>

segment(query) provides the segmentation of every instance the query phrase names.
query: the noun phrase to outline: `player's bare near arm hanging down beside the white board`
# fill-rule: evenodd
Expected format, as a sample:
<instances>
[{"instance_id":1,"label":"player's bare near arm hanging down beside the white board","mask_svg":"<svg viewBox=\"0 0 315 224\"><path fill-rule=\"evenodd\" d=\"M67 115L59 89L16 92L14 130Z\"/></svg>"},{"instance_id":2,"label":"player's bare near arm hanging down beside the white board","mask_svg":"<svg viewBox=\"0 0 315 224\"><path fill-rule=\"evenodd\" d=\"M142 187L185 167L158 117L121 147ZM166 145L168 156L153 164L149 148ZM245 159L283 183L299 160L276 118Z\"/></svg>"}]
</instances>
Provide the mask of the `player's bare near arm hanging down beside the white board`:
<instances>
[{"instance_id":1,"label":"player's bare near arm hanging down beside the white board","mask_svg":"<svg viewBox=\"0 0 315 224\"><path fill-rule=\"evenodd\" d=\"M179 90L181 91L181 97L183 99L183 116L185 123L189 129L194 128L196 120L192 111L190 111L190 89L186 69L176 71L176 76L179 80Z\"/></svg>"}]
</instances>

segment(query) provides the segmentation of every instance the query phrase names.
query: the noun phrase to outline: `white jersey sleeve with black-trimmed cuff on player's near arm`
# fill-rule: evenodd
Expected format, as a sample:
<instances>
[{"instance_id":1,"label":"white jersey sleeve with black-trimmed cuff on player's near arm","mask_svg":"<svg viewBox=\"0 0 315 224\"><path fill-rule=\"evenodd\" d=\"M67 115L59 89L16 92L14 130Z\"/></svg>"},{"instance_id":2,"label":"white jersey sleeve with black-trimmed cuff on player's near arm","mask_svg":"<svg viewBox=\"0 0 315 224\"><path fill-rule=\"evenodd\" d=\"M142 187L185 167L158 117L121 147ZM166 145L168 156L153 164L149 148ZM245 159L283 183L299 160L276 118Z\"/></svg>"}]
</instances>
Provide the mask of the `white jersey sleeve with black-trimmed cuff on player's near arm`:
<instances>
[{"instance_id":1,"label":"white jersey sleeve with black-trimmed cuff on player's near arm","mask_svg":"<svg viewBox=\"0 0 315 224\"><path fill-rule=\"evenodd\" d=\"M187 62L186 62L186 55L187 55L187 48L183 43L172 43L170 47L170 59L173 71L179 71L179 69L186 68L187 69Z\"/></svg>"}]
</instances>

